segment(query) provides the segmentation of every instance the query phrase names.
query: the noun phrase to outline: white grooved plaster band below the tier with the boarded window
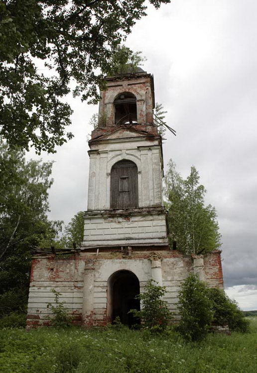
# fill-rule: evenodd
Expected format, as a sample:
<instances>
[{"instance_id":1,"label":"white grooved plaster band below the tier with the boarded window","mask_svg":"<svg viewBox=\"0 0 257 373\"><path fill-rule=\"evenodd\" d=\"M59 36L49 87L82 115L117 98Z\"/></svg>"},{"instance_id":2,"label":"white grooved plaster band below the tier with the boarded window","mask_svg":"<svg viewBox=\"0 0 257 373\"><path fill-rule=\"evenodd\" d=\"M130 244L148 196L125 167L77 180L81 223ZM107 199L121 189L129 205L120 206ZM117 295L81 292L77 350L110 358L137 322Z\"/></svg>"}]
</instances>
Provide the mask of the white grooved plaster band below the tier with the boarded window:
<instances>
[{"instance_id":1,"label":"white grooved plaster band below the tier with the boarded window","mask_svg":"<svg viewBox=\"0 0 257 373\"><path fill-rule=\"evenodd\" d=\"M165 213L86 216L82 246L168 243Z\"/></svg>"}]
</instances>

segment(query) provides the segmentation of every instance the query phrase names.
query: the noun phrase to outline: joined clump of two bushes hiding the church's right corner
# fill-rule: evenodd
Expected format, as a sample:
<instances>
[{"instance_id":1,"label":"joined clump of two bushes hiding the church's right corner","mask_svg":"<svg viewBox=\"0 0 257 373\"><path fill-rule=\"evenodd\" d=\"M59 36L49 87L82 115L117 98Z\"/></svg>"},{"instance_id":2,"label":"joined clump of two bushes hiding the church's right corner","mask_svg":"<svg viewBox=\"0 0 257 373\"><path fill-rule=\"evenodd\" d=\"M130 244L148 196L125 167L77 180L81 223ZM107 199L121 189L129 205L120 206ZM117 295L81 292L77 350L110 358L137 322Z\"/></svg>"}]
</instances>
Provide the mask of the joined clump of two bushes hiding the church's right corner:
<instances>
[{"instance_id":1,"label":"joined clump of two bushes hiding the church's right corner","mask_svg":"<svg viewBox=\"0 0 257 373\"><path fill-rule=\"evenodd\" d=\"M203 340L212 326L227 326L242 333L249 330L249 321L237 303L224 290L209 288L197 275L190 274L184 280L178 298L178 331L187 341Z\"/></svg>"}]
</instances>

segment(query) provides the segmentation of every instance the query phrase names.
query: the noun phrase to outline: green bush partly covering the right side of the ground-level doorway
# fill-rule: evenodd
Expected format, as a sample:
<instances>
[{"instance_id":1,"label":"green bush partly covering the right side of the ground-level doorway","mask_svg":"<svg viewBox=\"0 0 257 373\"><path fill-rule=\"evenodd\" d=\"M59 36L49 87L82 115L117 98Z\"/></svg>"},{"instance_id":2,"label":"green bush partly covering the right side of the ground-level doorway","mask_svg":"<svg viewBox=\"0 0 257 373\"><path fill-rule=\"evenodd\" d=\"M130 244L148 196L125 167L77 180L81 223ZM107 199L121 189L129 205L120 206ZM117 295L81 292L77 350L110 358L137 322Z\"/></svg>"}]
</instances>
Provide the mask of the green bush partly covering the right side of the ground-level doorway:
<instances>
[{"instance_id":1,"label":"green bush partly covering the right side of the ground-level doorway","mask_svg":"<svg viewBox=\"0 0 257 373\"><path fill-rule=\"evenodd\" d=\"M142 309L131 310L135 317L140 318L144 328L148 328L151 332L162 332L166 329L171 313L168 309L167 302L162 299L166 293L165 286L159 286L154 280L148 280L145 286L145 291L136 296L140 299Z\"/></svg>"}]
</instances>

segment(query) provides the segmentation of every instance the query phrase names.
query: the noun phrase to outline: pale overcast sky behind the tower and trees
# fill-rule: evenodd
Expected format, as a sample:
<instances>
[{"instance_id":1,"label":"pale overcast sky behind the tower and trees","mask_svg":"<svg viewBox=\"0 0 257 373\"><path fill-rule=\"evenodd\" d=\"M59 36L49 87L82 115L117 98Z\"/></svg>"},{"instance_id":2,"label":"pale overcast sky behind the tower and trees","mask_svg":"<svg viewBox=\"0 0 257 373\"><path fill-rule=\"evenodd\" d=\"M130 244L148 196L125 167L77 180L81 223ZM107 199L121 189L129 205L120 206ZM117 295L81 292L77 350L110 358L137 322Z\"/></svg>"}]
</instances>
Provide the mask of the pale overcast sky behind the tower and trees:
<instances>
[{"instance_id":1,"label":"pale overcast sky behind the tower and trees","mask_svg":"<svg viewBox=\"0 0 257 373\"><path fill-rule=\"evenodd\" d=\"M136 23L126 45L142 51L155 101L168 111L164 164L183 177L195 165L216 207L227 293L257 309L257 1L172 0ZM97 106L69 97L75 137L41 155L54 160L51 219L86 209L86 135ZM33 156L33 153L30 153Z\"/></svg>"}]
</instances>

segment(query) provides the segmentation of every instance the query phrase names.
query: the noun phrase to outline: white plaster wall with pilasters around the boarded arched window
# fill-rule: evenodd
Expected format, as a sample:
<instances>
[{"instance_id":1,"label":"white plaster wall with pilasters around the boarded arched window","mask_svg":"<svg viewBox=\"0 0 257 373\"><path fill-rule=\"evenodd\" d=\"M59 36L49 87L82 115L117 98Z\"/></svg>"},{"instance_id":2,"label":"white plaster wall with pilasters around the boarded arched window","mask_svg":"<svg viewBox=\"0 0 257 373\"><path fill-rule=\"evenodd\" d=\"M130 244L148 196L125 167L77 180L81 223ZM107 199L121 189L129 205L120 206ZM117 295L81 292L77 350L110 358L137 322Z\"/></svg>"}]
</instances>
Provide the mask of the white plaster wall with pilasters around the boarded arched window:
<instances>
[{"instance_id":1,"label":"white plaster wall with pilasters around the boarded arched window","mask_svg":"<svg viewBox=\"0 0 257 373\"><path fill-rule=\"evenodd\" d=\"M148 143L148 141L147 141ZM142 145L144 144L144 145ZM112 166L123 159L134 162L138 172L138 206L162 206L161 148L146 142L106 144L105 149L90 152L88 210L110 208Z\"/></svg>"}]
</instances>

